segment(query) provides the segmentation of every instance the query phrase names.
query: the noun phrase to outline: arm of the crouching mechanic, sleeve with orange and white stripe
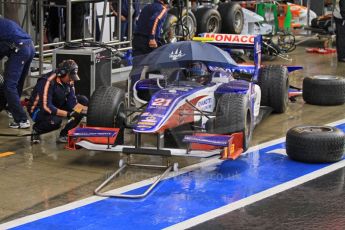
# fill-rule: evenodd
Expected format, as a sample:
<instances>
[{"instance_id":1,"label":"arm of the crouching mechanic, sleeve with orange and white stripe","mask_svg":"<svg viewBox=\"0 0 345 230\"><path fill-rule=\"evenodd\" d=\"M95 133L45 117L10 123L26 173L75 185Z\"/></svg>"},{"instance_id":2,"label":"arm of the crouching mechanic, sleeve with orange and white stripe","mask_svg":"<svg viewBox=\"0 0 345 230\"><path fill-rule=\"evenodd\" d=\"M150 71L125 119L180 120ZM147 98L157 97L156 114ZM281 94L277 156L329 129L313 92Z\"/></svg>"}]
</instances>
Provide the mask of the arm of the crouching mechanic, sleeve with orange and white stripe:
<instances>
[{"instance_id":1,"label":"arm of the crouching mechanic, sleeve with orange and white stripe","mask_svg":"<svg viewBox=\"0 0 345 230\"><path fill-rule=\"evenodd\" d=\"M53 104L53 87L52 81L55 79L56 74L51 75L43 86L40 97L42 98L43 110L51 115L57 115L60 117L67 117L68 112L58 109Z\"/></svg>"}]
</instances>

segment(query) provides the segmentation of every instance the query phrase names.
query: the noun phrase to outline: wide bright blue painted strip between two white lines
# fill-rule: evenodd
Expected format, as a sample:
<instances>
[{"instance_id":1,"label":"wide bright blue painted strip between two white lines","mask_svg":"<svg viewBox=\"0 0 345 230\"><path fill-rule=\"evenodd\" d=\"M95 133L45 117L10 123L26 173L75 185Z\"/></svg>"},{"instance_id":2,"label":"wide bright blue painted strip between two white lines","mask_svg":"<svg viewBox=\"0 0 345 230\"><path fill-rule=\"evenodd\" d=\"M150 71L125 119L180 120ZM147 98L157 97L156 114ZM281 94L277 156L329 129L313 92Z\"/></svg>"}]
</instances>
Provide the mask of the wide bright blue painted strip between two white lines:
<instances>
[{"instance_id":1,"label":"wide bright blue painted strip between two white lines","mask_svg":"<svg viewBox=\"0 0 345 230\"><path fill-rule=\"evenodd\" d=\"M13 229L162 229L330 165L267 153L282 148L285 143L167 179L141 200L109 198Z\"/></svg>"}]
</instances>

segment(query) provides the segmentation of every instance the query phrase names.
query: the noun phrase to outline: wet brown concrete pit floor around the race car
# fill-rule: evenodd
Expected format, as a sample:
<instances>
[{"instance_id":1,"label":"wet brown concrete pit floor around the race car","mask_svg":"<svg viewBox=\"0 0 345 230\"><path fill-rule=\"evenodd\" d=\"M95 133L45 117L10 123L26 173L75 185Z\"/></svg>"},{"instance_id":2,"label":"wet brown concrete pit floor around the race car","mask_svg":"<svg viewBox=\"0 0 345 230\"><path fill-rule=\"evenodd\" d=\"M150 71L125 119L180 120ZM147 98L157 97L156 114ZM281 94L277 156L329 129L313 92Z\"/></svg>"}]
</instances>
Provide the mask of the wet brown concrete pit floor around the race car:
<instances>
[{"instance_id":1,"label":"wet brown concrete pit floor around the race car","mask_svg":"<svg viewBox=\"0 0 345 230\"><path fill-rule=\"evenodd\" d=\"M345 64L338 64L334 55L307 54L304 48L299 47L293 52L293 62L275 61L275 63L285 65L304 66L304 70L292 74L291 82L294 86L300 87L304 76L316 74L345 75ZM343 119L344 114L345 105L312 106L305 104L301 98L298 98L297 102L290 103L285 114L273 114L255 129L252 145L282 137L292 126L326 124ZM6 114L0 113L0 133L26 132L10 130L7 128L7 123ZM15 152L14 155L0 158L0 222L7 222L88 197L92 195L93 189L117 167L118 154L96 153L86 150L66 151L63 145L56 144L56 137L57 133L44 135L42 143L35 146L30 145L28 137L0 137L0 152ZM136 159L162 163L162 159L159 157ZM176 160L181 167L200 161L190 158L176 158ZM138 172L131 169L128 175L121 177L109 189L157 174L158 171L154 170ZM323 194L328 196L327 192L320 192L319 195ZM311 199L309 198L308 200ZM258 209L260 209L259 206ZM237 215L239 212L241 210L236 212Z\"/></svg>"}]
</instances>

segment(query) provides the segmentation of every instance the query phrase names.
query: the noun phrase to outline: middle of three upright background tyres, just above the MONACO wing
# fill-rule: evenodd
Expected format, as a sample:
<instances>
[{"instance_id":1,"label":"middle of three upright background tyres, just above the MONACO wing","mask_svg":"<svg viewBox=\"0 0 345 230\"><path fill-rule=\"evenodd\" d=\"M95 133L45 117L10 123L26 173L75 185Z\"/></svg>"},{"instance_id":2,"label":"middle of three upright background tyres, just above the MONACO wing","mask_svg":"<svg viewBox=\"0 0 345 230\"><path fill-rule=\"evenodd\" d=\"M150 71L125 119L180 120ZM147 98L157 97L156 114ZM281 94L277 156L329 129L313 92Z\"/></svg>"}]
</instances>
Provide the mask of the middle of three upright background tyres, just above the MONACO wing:
<instances>
[{"instance_id":1,"label":"middle of three upright background tyres, just above the MONACO wing","mask_svg":"<svg viewBox=\"0 0 345 230\"><path fill-rule=\"evenodd\" d=\"M216 9L200 8L195 12L197 34L219 33L222 27L222 18Z\"/></svg>"}]
</instances>

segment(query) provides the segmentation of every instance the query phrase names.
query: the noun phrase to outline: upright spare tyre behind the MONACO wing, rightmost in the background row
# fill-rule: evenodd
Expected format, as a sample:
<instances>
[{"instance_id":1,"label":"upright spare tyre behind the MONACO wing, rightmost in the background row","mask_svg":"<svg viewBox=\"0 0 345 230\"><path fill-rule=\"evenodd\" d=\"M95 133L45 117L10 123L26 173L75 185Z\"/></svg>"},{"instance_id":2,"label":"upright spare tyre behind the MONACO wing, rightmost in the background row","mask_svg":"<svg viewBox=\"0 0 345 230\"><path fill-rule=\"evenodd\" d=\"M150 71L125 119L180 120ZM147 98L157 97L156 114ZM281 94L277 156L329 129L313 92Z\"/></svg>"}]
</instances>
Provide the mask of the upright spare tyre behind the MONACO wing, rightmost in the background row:
<instances>
[{"instance_id":1,"label":"upright spare tyre behind the MONACO wing, rightmost in the background row","mask_svg":"<svg viewBox=\"0 0 345 230\"><path fill-rule=\"evenodd\" d=\"M222 17L222 33L240 34L244 25L242 7L238 3L222 3L218 7Z\"/></svg>"}]
</instances>

